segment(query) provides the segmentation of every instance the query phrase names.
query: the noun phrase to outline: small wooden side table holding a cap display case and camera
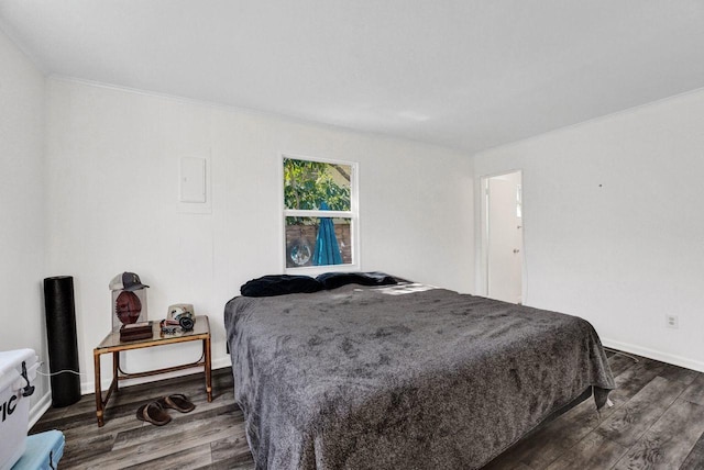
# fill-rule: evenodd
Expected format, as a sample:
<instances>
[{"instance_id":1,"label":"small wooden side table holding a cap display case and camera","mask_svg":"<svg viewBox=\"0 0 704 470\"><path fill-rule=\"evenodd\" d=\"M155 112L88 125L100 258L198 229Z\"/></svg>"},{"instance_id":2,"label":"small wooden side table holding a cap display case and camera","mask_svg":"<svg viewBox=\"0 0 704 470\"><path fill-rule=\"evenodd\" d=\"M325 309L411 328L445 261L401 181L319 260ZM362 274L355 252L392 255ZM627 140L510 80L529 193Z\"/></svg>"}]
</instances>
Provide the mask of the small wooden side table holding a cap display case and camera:
<instances>
[{"instance_id":1,"label":"small wooden side table holding a cap display case and camera","mask_svg":"<svg viewBox=\"0 0 704 470\"><path fill-rule=\"evenodd\" d=\"M196 362L185 363L182 366L167 367L164 369L148 370L145 372L128 373L120 368L120 352L130 349L151 348L154 346L173 345L176 343L202 340L202 356ZM102 398L102 387L100 384L100 356L112 352L112 382L108 392ZM96 415L98 417L98 426L105 424L103 411L112 392L118 391L120 380L136 379L140 377L156 376L158 373L173 372L175 370L188 369L191 367L202 367L206 374L206 393L208 401L212 401L212 387L210 374L210 324L207 315L196 316L196 325L190 332L182 332L173 335L163 334L158 322L152 324L152 337L139 339L134 342L121 342L120 332L114 331L92 350L92 358L96 369Z\"/></svg>"}]
</instances>

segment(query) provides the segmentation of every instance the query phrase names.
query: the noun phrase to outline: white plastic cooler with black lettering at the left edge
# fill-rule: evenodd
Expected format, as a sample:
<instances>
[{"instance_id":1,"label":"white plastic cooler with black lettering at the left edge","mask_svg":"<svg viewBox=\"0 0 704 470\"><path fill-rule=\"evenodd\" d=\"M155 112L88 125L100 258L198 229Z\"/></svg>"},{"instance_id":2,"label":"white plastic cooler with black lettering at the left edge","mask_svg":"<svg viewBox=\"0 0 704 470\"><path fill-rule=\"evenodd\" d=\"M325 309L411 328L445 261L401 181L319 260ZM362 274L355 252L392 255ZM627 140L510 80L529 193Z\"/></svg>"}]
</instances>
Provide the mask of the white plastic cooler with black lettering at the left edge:
<instances>
[{"instance_id":1,"label":"white plastic cooler with black lettering at the left edge","mask_svg":"<svg viewBox=\"0 0 704 470\"><path fill-rule=\"evenodd\" d=\"M26 446L30 395L38 363L33 349L0 351L0 469L10 469ZM24 366L24 367L23 367Z\"/></svg>"}]
</instances>

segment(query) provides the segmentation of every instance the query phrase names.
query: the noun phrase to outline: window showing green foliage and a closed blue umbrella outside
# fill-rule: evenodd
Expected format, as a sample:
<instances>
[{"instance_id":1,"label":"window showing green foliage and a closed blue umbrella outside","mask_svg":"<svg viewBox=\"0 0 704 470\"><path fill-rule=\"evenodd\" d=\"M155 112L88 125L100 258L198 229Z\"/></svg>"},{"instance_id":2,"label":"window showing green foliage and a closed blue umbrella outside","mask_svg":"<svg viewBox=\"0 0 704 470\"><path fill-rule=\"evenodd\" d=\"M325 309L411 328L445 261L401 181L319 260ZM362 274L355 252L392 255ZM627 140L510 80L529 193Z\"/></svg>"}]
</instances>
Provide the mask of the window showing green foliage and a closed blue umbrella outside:
<instances>
[{"instance_id":1,"label":"window showing green foliage and a closed blue umbrella outside","mask_svg":"<svg viewBox=\"0 0 704 470\"><path fill-rule=\"evenodd\" d=\"M283 166L286 269L358 266L356 164L284 155Z\"/></svg>"}]
</instances>

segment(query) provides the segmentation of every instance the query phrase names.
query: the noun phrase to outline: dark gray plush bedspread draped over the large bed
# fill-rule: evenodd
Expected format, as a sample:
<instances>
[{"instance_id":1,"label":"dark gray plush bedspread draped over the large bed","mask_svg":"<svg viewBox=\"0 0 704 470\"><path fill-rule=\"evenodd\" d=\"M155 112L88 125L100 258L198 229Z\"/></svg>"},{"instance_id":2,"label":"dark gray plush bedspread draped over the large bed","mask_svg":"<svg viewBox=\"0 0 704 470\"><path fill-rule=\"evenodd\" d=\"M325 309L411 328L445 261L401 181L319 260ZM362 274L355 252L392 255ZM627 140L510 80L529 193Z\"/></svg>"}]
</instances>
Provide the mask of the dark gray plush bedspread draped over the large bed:
<instances>
[{"instance_id":1,"label":"dark gray plush bedspread draped over the large bed","mask_svg":"<svg viewBox=\"0 0 704 470\"><path fill-rule=\"evenodd\" d=\"M232 299L235 400L257 469L473 469L590 387L584 320L419 284Z\"/></svg>"}]
</instances>

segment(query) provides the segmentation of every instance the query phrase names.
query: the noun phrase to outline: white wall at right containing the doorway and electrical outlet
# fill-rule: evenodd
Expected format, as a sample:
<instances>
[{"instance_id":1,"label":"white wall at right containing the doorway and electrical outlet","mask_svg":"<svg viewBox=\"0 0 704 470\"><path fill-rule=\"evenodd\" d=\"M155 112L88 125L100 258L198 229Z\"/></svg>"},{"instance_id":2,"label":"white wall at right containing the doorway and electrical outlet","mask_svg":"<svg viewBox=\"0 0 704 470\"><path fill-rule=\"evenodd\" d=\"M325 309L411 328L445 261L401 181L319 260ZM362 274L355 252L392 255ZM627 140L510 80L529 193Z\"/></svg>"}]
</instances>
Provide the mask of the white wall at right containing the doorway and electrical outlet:
<instances>
[{"instance_id":1,"label":"white wall at right containing the doorway and electrical outlet","mask_svg":"<svg viewBox=\"0 0 704 470\"><path fill-rule=\"evenodd\" d=\"M704 91L475 156L477 181L509 169L524 171L527 303L704 371Z\"/></svg>"}]
</instances>

